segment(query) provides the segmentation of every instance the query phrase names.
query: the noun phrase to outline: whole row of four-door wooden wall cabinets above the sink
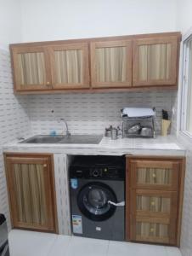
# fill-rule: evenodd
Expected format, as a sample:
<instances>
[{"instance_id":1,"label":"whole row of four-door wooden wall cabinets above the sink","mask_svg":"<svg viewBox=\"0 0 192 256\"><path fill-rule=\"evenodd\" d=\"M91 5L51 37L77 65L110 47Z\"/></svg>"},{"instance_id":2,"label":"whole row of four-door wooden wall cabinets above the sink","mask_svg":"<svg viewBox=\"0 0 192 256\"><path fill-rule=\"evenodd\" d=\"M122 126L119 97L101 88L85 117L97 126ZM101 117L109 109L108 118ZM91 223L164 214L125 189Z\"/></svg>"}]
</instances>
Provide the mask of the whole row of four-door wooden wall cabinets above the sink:
<instances>
[{"instance_id":1,"label":"whole row of four-door wooden wall cabinets above the sink","mask_svg":"<svg viewBox=\"0 0 192 256\"><path fill-rule=\"evenodd\" d=\"M177 88L180 32L11 44L14 91Z\"/></svg>"}]
</instances>

